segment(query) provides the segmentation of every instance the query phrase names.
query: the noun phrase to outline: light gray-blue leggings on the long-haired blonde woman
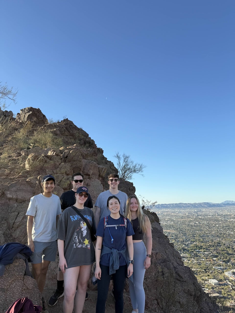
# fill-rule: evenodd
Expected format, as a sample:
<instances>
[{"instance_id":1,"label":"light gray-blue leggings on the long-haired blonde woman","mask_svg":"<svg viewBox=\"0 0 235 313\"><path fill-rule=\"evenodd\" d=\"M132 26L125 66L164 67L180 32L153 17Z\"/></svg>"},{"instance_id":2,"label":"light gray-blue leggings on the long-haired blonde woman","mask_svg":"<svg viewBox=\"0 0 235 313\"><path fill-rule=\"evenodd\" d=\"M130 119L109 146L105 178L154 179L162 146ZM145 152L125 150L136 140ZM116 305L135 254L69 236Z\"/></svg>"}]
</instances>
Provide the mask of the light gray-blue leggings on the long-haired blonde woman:
<instances>
[{"instance_id":1,"label":"light gray-blue leggings on the long-haired blonde woman","mask_svg":"<svg viewBox=\"0 0 235 313\"><path fill-rule=\"evenodd\" d=\"M133 309L139 310L139 313L144 313L145 293L144 293L144 260L146 259L146 248L144 242L134 242L134 265L133 265L133 281L129 280L129 290L131 297L131 304Z\"/></svg>"}]
</instances>

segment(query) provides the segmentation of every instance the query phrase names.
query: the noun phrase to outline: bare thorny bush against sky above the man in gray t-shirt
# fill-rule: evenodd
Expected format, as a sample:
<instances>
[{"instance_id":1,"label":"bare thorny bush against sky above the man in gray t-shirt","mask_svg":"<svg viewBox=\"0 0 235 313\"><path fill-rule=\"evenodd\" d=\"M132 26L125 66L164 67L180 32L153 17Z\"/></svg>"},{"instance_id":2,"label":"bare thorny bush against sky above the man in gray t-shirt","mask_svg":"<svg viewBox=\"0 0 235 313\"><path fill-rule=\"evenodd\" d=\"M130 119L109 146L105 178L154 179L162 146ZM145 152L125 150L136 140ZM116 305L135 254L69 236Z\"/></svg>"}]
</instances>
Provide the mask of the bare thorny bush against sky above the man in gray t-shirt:
<instances>
[{"instance_id":1,"label":"bare thorny bush against sky above the man in gray t-shirt","mask_svg":"<svg viewBox=\"0 0 235 313\"><path fill-rule=\"evenodd\" d=\"M121 156L119 152L116 152L114 157L117 159L117 169L119 177L125 180L132 179L133 174L142 174L146 165L143 163L134 163L131 157L125 153Z\"/></svg>"}]
</instances>

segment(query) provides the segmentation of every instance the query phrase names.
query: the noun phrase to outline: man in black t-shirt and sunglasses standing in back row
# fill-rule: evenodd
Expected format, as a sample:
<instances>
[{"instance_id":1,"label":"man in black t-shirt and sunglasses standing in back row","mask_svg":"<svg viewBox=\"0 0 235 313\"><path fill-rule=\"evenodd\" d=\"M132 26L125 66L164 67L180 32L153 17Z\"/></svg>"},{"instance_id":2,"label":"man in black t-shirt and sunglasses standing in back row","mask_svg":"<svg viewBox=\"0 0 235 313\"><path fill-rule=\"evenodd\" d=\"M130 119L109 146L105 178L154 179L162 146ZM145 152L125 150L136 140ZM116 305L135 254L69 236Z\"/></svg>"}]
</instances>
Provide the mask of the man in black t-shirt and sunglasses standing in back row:
<instances>
[{"instance_id":1,"label":"man in black t-shirt and sunglasses standing in back row","mask_svg":"<svg viewBox=\"0 0 235 313\"><path fill-rule=\"evenodd\" d=\"M75 193L77 189L83 186L83 174L80 172L74 173L72 175L71 181L73 188L69 191L63 192L60 196L60 205L61 211L63 212L66 208L69 208L71 205L74 205L76 202ZM89 195L84 203L84 207L93 208L93 203L91 200L91 196ZM55 294L50 297L48 301L48 305L54 306L58 299L63 297L64 295L64 274L62 271L59 271L59 266L57 268L57 289L55 290ZM88 293L86 293L86 299L88 299Z\"/></svg>"}]
</instances>

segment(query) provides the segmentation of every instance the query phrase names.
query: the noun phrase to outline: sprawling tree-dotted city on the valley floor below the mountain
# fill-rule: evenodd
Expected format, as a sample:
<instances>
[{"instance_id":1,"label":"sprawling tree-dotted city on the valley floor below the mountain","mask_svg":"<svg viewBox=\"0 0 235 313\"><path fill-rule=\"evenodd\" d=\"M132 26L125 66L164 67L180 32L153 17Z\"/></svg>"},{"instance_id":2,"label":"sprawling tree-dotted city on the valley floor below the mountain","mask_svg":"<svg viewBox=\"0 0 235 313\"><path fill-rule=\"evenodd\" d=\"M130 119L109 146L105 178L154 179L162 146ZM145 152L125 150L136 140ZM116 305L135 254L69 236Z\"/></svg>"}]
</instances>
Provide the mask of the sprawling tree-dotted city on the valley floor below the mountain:
<instances>
[{"instance_id":1,"label":"sprawling tree-dotted city on the valley floor below the mountain","mask_svg":"<svg viewBox=\"0 0 235 313\"><path fill-rule=\"evenodd\" d=\"M205 292L235 305L235 206L153 209Z\"/></svg>"}]
</instances>

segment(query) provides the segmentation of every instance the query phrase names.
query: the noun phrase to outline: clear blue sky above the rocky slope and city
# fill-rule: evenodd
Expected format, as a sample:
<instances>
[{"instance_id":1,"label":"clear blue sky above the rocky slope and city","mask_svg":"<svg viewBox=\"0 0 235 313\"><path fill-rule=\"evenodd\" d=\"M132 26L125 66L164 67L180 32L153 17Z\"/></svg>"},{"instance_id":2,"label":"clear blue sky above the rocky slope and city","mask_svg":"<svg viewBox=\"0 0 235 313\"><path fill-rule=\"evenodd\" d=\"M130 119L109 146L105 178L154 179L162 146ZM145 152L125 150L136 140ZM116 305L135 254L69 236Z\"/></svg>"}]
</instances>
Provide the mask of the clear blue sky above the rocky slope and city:
<instances>
[{"instance_id":1,"label":"clear blue sky above the rocky slope and city","mask_svg":"<svg viewBox=\"0 0 235 313\"><path fill-rule=\"evenodd\" d=\"M2 1L14 113L66 116L158 203L234 197L234 0Z\"/></svg>"}]
</instances>

